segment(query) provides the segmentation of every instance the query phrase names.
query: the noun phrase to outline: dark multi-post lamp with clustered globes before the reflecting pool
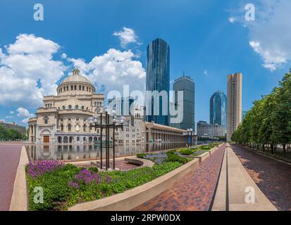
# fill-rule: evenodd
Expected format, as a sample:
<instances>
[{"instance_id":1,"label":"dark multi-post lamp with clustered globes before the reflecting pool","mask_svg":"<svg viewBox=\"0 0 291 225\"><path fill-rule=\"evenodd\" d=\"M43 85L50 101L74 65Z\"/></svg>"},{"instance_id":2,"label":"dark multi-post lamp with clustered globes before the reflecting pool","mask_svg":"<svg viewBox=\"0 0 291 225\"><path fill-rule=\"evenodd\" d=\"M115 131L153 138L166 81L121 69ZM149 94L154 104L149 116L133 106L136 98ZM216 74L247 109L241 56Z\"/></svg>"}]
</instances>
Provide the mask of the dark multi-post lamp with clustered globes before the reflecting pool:
<instances>
[{"instance_id":1,"label":"dark multi-post lamp with clustered globes before the reflecting pool","mask_svg":"<svg viewBox=\"0 0 291 225\"><path fill-rule=\"evenodd\" d=\"M100 115L100 122L98 121L98 115ZM103 116L105 117L105 124L103 123ZM110 123L110 118L112 118L113 122ZM116 113L113 110L109 113L107 108L100 107L97 110L97 115L93 117L89 117L87 121L90 124L90 127L94 127L95 129L100 128L100 169L102 169L102 151L103 151L103 144L102 144L102 136L103 136L103 129L105 129L105 166L106 170L109 169L109 136L110 136L110 129L113 129L113 169L115 169L115 129L120 127L123 129L123 125L126 124L125 117L116 117Z\"/></svg>"}]
</instances>

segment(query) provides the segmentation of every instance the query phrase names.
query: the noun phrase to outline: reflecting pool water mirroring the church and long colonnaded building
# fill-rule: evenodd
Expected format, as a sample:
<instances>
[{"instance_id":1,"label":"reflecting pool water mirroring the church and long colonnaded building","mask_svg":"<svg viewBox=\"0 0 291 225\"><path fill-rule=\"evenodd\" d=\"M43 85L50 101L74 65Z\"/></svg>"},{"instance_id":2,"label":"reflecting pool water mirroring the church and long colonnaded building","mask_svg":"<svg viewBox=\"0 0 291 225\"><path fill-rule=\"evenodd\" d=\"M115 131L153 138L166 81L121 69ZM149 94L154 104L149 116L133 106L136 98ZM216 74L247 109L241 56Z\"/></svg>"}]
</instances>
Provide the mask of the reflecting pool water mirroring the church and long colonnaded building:
<instances>
[{"instance_id":1,"label":"reflecting pool water mirroring the church and long colonnaded building","mask_svg":"<svg viewBox=\"0 0 291 225\"><path fill-rule=\"evenodd\" d=\"M185 143L147 143L147 144L125 144L116 145L116 157L136 155L137 153L146 153L157 150L168 150L173 148L184 147ZM28 158L33 160L94 160L100 158L99 144L85 146L26 146ZM110 157L112 158L112 148L110 148ZM105 157L105 148L102 151L103 158Z\"/></svg>"}]
</instances>

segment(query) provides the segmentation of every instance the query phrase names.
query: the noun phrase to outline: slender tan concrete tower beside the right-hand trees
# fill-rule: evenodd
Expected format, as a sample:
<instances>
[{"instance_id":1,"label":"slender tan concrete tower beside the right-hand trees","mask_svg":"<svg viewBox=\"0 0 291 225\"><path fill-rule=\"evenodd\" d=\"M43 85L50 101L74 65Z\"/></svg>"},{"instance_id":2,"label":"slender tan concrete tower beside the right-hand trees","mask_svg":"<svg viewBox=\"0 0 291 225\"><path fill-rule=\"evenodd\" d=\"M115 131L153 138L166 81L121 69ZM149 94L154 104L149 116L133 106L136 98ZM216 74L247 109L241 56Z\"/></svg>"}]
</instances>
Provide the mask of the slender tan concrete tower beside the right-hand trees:
<instances>
[{"instance_id":1,"label":"slender tan concrete tower beside the right-hand trees","mask_svg":"<svg viewBox=\"0 0 291 225\"><path fill-rule=\"evenodd\" d=\"M228 75L227 141L242 122L242 74Z\"/></svg>"}]
</instances>

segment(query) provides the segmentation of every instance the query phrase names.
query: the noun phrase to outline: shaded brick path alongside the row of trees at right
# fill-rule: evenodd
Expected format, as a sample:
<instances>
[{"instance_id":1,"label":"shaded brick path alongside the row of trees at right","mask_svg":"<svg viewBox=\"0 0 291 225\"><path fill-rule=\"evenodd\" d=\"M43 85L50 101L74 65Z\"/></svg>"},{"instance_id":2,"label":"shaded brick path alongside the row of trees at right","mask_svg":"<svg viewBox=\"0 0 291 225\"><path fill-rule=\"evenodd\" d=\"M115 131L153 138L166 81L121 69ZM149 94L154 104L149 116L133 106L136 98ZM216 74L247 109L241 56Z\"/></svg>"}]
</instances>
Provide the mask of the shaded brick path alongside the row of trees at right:
<instances>
[{"instance_id":1,"label":"shaded brick path alongside the row of trees at right","mask_svg":"<svg viewBox=\"0 0 291 225\"><path fill-rule=\"evenodd\" d=\"M291 211L291 166L232 145L235 154L260 190L278 210Z\"/></svg>"}]
</instances>

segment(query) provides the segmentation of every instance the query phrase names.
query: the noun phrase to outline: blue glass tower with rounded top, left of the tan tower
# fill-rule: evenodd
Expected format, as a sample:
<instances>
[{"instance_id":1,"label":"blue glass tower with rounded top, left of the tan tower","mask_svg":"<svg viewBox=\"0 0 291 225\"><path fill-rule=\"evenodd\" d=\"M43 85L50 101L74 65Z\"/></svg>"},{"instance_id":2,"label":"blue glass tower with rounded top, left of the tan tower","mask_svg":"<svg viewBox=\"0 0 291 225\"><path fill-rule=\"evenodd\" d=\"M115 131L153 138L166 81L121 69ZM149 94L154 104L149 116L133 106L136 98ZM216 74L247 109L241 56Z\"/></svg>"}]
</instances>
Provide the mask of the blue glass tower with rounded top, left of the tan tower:
<instances>
[{"instance_id":1,"label":"blue glass tower with rounded top, left of the tan tower","mask_svg":"<svg viewBox=\"0 0 291 225\"><path fill-rule=\"evenodd\" d=\"M216 91L210 98L210 124L226 126L227 98L222 91Z\"/></svg>"}]
</instances>

